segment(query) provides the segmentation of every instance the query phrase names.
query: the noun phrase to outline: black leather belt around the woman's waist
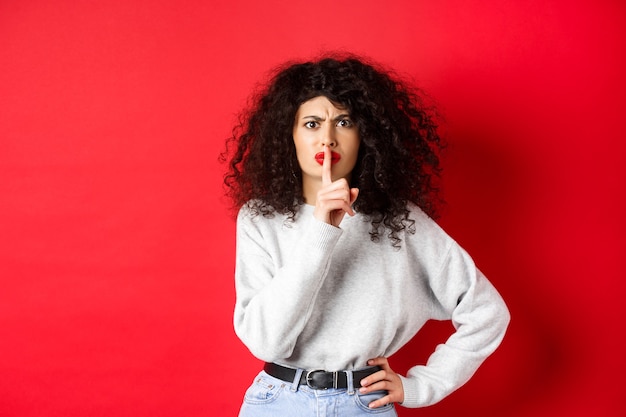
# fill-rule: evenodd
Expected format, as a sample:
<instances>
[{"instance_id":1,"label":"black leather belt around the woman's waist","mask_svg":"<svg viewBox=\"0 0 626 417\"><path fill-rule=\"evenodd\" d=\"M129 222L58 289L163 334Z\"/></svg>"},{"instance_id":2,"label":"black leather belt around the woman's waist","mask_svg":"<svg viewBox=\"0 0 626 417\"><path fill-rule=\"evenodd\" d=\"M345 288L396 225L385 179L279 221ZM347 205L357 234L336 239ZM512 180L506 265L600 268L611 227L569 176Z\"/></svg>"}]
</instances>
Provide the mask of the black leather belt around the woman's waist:
<instances>
[{"instance_id":1,"label":"black leather belt around the woman's waist","mask_svg":"<svg viewBox=\"0 0 626 417\"><path fill-rule=\"evenodd\" d=\"M361 380L366 376L380 371L380 366L352 371L353 386L355 389L361 387ZM297 369L287 368L275 363L265 363L263 370L274 378L282 379L286 382L293 382ZM303 371L300 377L300 385L307 385L313 389L348 388L348 376L346 371L327 372L322 370Z\"/></svg>"}]
</instances>

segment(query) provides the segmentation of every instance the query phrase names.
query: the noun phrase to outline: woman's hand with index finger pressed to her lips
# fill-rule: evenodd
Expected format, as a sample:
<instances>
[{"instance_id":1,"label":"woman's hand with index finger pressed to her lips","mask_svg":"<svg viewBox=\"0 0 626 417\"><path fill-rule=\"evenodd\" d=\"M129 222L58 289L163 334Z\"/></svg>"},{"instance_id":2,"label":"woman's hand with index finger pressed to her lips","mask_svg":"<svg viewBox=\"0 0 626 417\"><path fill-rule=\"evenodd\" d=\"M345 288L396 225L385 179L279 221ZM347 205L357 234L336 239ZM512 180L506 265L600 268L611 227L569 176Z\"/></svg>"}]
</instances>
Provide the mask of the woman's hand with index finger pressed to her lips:
<instances>
[{"instance_id":1,"label":"woman's hand with index finger pressed to her lips","mask_svg":"<svg viewBox=\"0 0 626 417\"><path fill-rule=\"evenodd\" d=\"M359 195L358 188L350 188L345 178L332 180L332 156L330 148L324 145L324 163L322 164L322 188L317 192L313 215L328 224L339 227L343 216L354 216L352 204Z\"/></svg>"}]
</instances>

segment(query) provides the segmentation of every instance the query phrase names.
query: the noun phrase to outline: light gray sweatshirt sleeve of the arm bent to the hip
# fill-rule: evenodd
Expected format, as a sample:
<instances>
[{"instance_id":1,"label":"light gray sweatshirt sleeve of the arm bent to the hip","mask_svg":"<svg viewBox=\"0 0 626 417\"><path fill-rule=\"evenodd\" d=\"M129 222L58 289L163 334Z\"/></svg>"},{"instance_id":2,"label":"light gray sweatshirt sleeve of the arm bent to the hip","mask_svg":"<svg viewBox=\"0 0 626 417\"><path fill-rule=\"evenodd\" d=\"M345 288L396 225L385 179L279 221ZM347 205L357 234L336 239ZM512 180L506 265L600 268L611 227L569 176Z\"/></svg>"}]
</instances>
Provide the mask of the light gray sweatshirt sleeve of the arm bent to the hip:
<instances>
[{"instance_id":1,"label":"light gray sweatshirt sleeve of the arm bent to the hip","mask_svg":"<svg viewBox=\"0 0 626 417\"><path fill-rule=\"evenodd\" d=\"M414 366L401 376L402 405L409 408L434 404L465 384L498 347L510 321L500 294L454 242L430 286L433 317L451 319L456 331L437 346L425 366Z\"/></svg>"}]
</instances>

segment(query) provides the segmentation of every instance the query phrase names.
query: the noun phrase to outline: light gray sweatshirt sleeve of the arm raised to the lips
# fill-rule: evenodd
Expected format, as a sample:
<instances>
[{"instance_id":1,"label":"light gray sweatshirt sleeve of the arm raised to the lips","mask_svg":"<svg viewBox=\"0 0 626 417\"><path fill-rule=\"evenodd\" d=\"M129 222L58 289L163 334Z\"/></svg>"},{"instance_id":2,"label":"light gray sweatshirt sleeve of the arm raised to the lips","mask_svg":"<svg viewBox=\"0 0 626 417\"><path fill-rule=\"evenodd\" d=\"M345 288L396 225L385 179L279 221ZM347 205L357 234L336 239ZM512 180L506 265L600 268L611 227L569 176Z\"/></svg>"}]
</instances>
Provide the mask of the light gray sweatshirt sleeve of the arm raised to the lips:
<instances>
[{"instance_id":1,"label":"light gray sweatshirt sleeve of the arm raised to the lips","mask_svg":"<svg viewBox=\"0 0 626 417\"><path fill-rule=\"evenodd\" d=\"M301 222L297 244L277 259L269 223L243 210L237 219L234 327L255 357L273 362L291 356L342 231L315 219Z\"/></svg>"}]
</instances>

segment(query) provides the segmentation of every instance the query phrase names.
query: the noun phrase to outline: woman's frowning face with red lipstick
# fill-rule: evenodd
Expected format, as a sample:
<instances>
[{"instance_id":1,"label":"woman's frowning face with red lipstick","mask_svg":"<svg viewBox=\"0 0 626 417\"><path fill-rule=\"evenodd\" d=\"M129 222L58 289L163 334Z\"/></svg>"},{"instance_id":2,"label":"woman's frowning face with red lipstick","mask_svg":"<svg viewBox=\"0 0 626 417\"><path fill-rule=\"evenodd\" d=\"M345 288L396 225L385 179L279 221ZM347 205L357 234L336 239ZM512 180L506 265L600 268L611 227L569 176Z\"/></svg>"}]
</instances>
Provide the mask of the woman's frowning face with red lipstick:
<instances>
[{"instance_id":1,"label":"woman's frowning face with red lipstick","mask_svg":"<svg viewBox=\"0 0 626 417\"><path fill-rule=\"evenodd\" d=\"M359 129L345 108L336 107L324 96L305 101L296 113L293 141L304 188L307 182L321 183L324 145L332 151L333 181L350 181L361 140Z\"/></svg>"}]
</instances>

